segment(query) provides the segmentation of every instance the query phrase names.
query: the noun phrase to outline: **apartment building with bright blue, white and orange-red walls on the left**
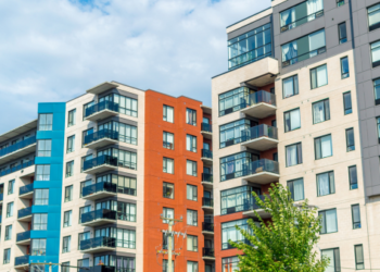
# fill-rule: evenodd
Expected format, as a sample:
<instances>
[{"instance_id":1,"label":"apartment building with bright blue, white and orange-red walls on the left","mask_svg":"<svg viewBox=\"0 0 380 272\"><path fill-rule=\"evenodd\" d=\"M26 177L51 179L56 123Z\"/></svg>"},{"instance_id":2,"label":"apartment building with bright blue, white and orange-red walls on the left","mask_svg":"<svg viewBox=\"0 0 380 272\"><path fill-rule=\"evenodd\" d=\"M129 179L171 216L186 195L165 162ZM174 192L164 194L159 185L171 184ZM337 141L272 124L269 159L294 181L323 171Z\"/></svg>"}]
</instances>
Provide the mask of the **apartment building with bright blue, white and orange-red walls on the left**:
<instances>
[{"instance_id":1,"label":"apartment building with bright blue, white and orange-red walls on the left","mask_svg":"<svg viewBox=\"0 0 380 272\"><path fill-rule=\"evenodd\" d=\"M174 271L214 271L211 127L200 101L116 82L39 103L0 135L1 271L167 271L162 218L186 234Z\"/></svg>"}]
</instances>

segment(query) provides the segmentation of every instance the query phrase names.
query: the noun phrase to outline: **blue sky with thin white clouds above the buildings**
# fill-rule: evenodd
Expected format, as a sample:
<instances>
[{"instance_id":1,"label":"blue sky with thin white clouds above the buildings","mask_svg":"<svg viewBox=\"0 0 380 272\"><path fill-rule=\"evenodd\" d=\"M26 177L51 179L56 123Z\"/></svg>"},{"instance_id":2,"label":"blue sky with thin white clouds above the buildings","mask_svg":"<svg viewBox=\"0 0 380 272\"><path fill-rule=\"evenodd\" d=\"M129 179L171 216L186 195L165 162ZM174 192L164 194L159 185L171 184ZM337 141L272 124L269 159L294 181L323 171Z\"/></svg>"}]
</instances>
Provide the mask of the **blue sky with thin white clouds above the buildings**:
<instances>
[{"instance_id":1,"label":"blue sky with thin white clouds above the buildings","mask_svg":"<svg viewBox=\"0 0 380 272\"><path fill-rule=\"evenodd\" d=\"M270 0L0 1L0 134L105 81L211 104L226 26Z\"/></svg>"}]
</instances>

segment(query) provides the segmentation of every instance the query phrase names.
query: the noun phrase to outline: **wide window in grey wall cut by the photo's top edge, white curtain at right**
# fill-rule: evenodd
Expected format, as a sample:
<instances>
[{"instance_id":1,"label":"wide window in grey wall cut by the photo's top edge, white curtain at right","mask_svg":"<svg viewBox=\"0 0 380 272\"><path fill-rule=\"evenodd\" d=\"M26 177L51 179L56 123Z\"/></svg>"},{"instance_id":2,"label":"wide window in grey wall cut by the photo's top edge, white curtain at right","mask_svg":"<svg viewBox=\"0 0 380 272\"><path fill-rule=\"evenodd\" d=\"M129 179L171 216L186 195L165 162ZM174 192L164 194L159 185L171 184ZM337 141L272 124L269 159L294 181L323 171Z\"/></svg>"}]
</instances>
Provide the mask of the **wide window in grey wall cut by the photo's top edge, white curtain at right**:
<instances>
[{"instance_id":1,"label":"wide window in grey wall cut by the photo's top edge, white curtain at right","mask_svg":"<svg viewBox=\"0 0 380 272\"><path fill-rule=\"evenodd\" d=\"M281 33L324 15L322 0L307 0L280 13Z\"/></svg>"}]
</instances>

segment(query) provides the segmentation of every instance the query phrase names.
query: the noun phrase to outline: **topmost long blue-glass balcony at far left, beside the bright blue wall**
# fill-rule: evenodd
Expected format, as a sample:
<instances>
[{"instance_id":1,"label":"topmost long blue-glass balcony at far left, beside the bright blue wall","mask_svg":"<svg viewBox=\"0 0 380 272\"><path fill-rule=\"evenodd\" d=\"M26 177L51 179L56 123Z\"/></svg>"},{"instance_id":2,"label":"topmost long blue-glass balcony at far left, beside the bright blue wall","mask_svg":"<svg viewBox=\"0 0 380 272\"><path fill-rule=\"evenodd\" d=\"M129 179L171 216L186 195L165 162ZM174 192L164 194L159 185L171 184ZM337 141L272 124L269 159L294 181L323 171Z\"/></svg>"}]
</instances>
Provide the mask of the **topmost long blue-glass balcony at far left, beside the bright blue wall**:
<instances>
[{"instance_id":1,"label":"topmost long blue-glass balcony at far left, beside the bright blue wall","mask_svg":"<svg viewBox=\"0 0 380 272\"><path fill-rule=\"evenodd\" d=\"M15 160L23 156L36 151L36 136L26 138L17 144L0 150L0 164L7 163L9 161Z\"/></svg>"}]
</instances>

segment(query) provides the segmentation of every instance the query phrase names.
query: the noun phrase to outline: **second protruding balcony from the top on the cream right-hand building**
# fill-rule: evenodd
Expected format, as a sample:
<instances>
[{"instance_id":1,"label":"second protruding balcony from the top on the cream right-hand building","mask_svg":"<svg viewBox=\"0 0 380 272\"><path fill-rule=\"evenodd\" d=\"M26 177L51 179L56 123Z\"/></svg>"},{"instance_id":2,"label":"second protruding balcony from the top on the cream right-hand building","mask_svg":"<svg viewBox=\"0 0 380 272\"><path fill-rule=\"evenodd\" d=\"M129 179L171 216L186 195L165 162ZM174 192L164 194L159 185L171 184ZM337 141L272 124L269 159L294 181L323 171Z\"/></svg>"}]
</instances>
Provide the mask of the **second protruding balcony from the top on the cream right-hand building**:
<instances>
[{"instance_id":1,"label":"second protruding balcony from the top on the cream right-hand building","mask_svg":"<svg viewBox=\"0 0 380 272\"><path fill-rule=\"evenodd\" d=\"M277 147L277 127L257 125L241 132L241 145L258 151L265 151Z\"/></svg>"}]
</instances>

